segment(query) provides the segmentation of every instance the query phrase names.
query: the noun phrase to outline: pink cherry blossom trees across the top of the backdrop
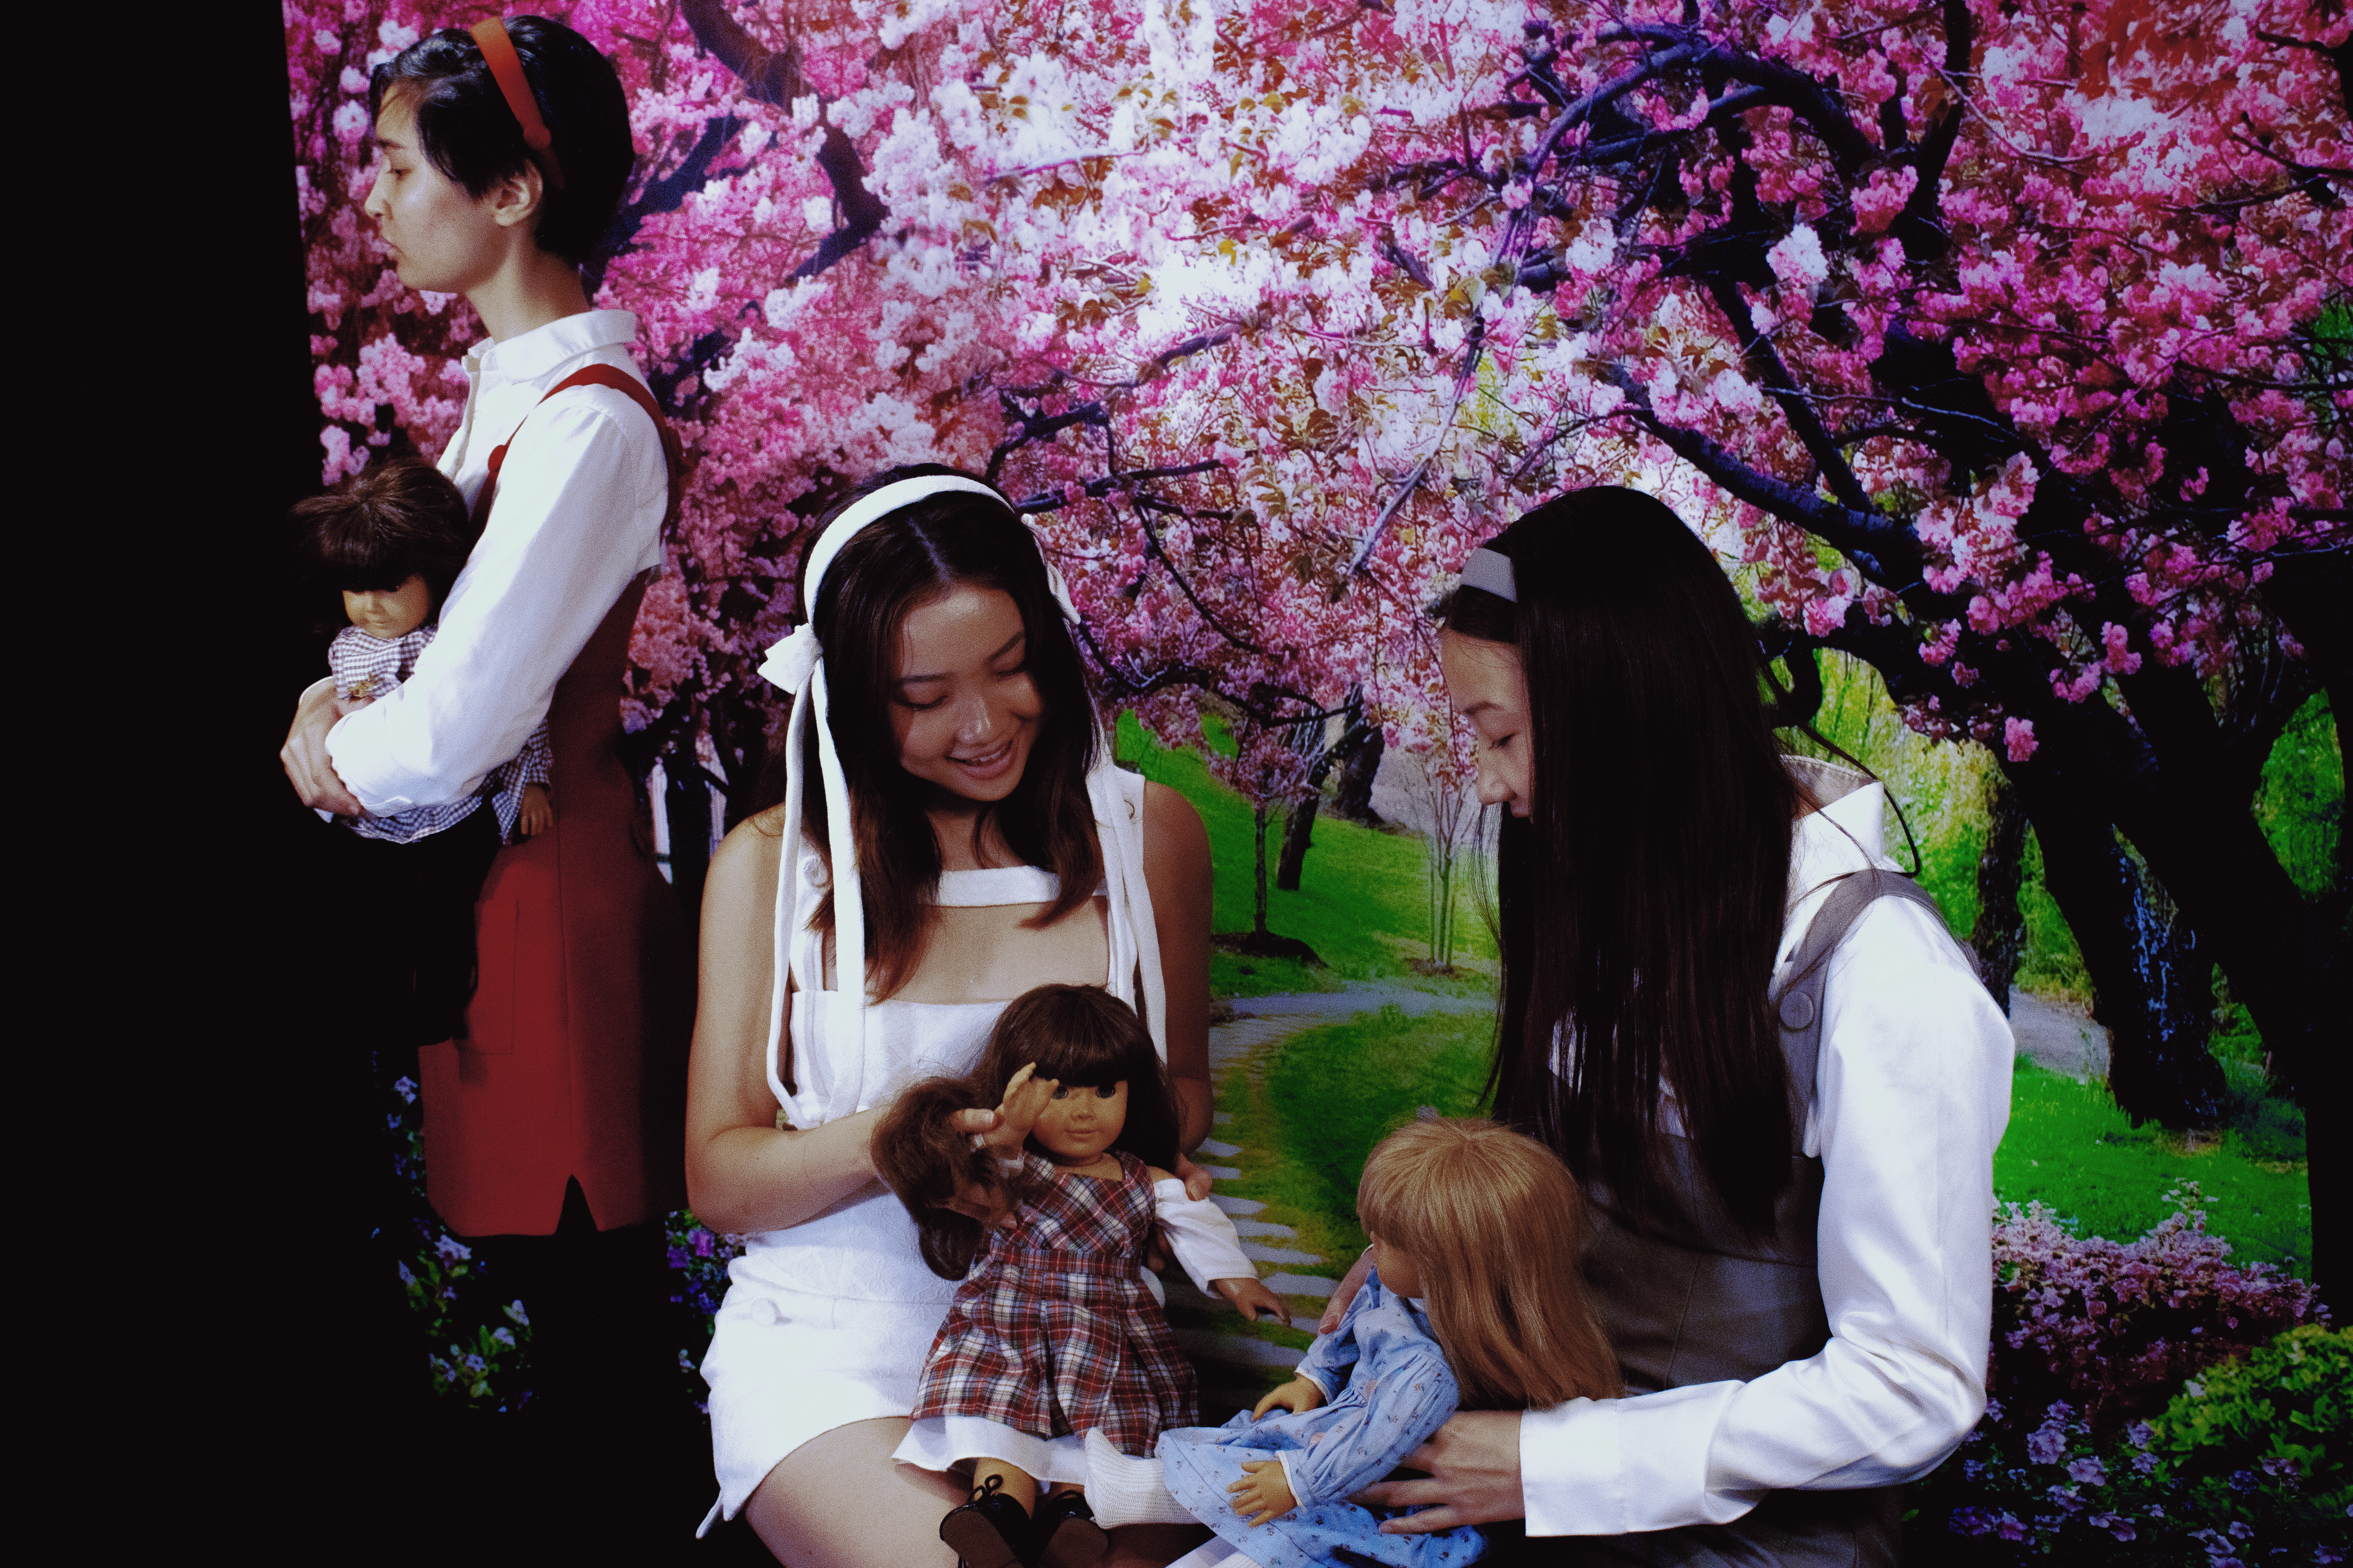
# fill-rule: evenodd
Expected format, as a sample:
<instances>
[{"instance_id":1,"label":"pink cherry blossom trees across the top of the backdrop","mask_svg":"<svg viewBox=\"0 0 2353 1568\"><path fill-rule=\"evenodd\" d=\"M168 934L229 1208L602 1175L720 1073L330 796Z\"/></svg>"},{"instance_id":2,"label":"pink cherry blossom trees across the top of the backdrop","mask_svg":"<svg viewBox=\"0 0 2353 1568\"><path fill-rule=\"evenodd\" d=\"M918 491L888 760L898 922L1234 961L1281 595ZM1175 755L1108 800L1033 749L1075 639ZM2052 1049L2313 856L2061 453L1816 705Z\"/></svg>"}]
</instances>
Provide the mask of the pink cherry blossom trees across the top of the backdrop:
<instances>
[{"instance_id":1,"label":"pink cherry blossom trees across the top of the backdrop","mask_svg":"<svg viewBox=\"0 0 2353 1568\"><path fill-rule=\"evenodd\" d=\"M2344 898L2249 795L2353 665L2344 7L548 9L631 92L595 299L694 461L652 748L741 780L807 520L941 458L1047 527L1104 691L1174 743L1214 705L1280 806L1332 717L1442 736L1424 611L1478 538L1642 475L1753 569L1793 710L1842 649L1995 750L2129 1107L2217 1093L2165 1044L2219 961L2318 1112ZM358 216L365 80L482 14L285 5L322 480L456 423L480 329Z\"/></svg>"}]
</instances>

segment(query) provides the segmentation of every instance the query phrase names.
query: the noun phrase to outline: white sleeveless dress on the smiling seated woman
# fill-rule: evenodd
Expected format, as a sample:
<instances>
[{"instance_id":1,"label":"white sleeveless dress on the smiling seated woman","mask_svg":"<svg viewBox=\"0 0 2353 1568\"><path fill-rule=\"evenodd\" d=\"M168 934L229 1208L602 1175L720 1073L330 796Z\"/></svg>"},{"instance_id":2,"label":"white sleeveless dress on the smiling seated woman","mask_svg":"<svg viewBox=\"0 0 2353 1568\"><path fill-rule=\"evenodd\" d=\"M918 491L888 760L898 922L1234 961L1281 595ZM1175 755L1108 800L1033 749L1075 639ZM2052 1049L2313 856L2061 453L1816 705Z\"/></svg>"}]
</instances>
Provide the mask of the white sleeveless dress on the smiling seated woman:
<instances>
[{"instance_id":1,"label":"white sleeveless dress on the smiling seated woman","mask_svg":"<svg viewBox=\"0 0 2353 1568\"><path fill-rule=\"evenodd\" d=\"M1167 1060L1160 940L1144 886L1144 778L1104 762L1087 776L1087 795L1111 905L1106 980L1144 1013ZM821 1126L885 1105L915 1079L969 1072L1009 999L875 1004L821 990L824 936L807 924L826 891L824 860L798 835L788 860L776 919L779 952L793 973L791 1086L776 1074L779 1030L769 1027L767 1039L767 1086L786 1119ZM1031 865L946 872L936 903L1049 903L1056 889L1052 872ZM925 1267L915 1222L880 1182L800 1225L751 1237L727 1279L701 1373L711 1385L711 1458L720 1481L713 1516L734 1519L767 1472L809 1439L915 1408L922 1356L955 1281Z\"/></svg>"}]
</instances>

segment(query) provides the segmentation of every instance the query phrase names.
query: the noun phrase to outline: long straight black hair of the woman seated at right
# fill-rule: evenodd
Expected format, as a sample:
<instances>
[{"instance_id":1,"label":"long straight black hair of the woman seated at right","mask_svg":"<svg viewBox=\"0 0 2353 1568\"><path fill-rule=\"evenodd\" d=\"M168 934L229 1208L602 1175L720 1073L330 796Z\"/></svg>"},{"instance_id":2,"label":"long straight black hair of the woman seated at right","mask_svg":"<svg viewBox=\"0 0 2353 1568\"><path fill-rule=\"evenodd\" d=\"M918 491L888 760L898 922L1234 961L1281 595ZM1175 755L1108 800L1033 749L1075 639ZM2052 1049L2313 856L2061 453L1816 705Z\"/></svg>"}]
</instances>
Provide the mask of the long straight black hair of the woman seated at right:
<instances>
[{"instance_id":1,"label":"long straight black hair of the woman seated at right","mask_svg":"<svg viewBox=\"0 0 2353 1568\"><path fill-rule=\"evenodd\" d=\"M1459 588L1445 630L1520 656L1534 769L1497 856L1494 1114L1671 1220L1664 1081L1725 1213L1762 1234L1791 1178L1765 987L1800 797L1755 632L1708 548L1640 491L1555 496L1487 548L1518 604Z\"/></svg>"}]
</instances>

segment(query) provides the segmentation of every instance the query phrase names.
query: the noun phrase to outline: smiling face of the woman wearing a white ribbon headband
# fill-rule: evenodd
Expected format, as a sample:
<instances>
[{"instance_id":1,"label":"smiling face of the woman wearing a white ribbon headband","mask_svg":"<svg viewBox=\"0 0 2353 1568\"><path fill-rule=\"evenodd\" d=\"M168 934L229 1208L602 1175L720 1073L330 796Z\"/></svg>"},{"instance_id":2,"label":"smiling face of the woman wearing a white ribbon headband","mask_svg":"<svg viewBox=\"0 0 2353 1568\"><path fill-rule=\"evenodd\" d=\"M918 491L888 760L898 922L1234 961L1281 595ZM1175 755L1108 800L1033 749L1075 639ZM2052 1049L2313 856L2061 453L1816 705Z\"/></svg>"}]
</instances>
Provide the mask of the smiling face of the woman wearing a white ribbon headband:
<instances>
[{"instance_id":1,"label":"smiling face of the woman wearing a white ribbon headband","mask_svg":"<svg viewBox=\"0 0 2353 1568\"><path fill-rule=\"evenodd\" d=\"M911 609L892 682L899 766L969 802L1021 785L1045 701L1012 595L958 583Z\"/></svg>"}]
</instances>

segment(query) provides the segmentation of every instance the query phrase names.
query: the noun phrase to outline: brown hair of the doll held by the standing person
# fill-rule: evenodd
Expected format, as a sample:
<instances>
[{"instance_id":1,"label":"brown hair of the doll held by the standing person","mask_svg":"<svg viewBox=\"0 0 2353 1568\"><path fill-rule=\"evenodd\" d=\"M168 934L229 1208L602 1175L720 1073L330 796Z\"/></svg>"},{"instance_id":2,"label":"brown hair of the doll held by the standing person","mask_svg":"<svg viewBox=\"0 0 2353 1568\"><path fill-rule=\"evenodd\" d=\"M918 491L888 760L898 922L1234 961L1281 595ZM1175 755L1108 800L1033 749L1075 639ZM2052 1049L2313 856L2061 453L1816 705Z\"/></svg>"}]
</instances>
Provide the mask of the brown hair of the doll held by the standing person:
<instances>
[{"instance_id":1,"label":"brown hair of the doll held by the standing person","mask_svg":"<svg viewBox=\"0 0 2353 1568\"><path fill-rule=\"evenodd\" d=\"M421 576L435 616L475 538L466 496L424 458L369 463L325 496L296 501L294 520L329 588L391 592Z\"/></svg>"}]
</instances>

